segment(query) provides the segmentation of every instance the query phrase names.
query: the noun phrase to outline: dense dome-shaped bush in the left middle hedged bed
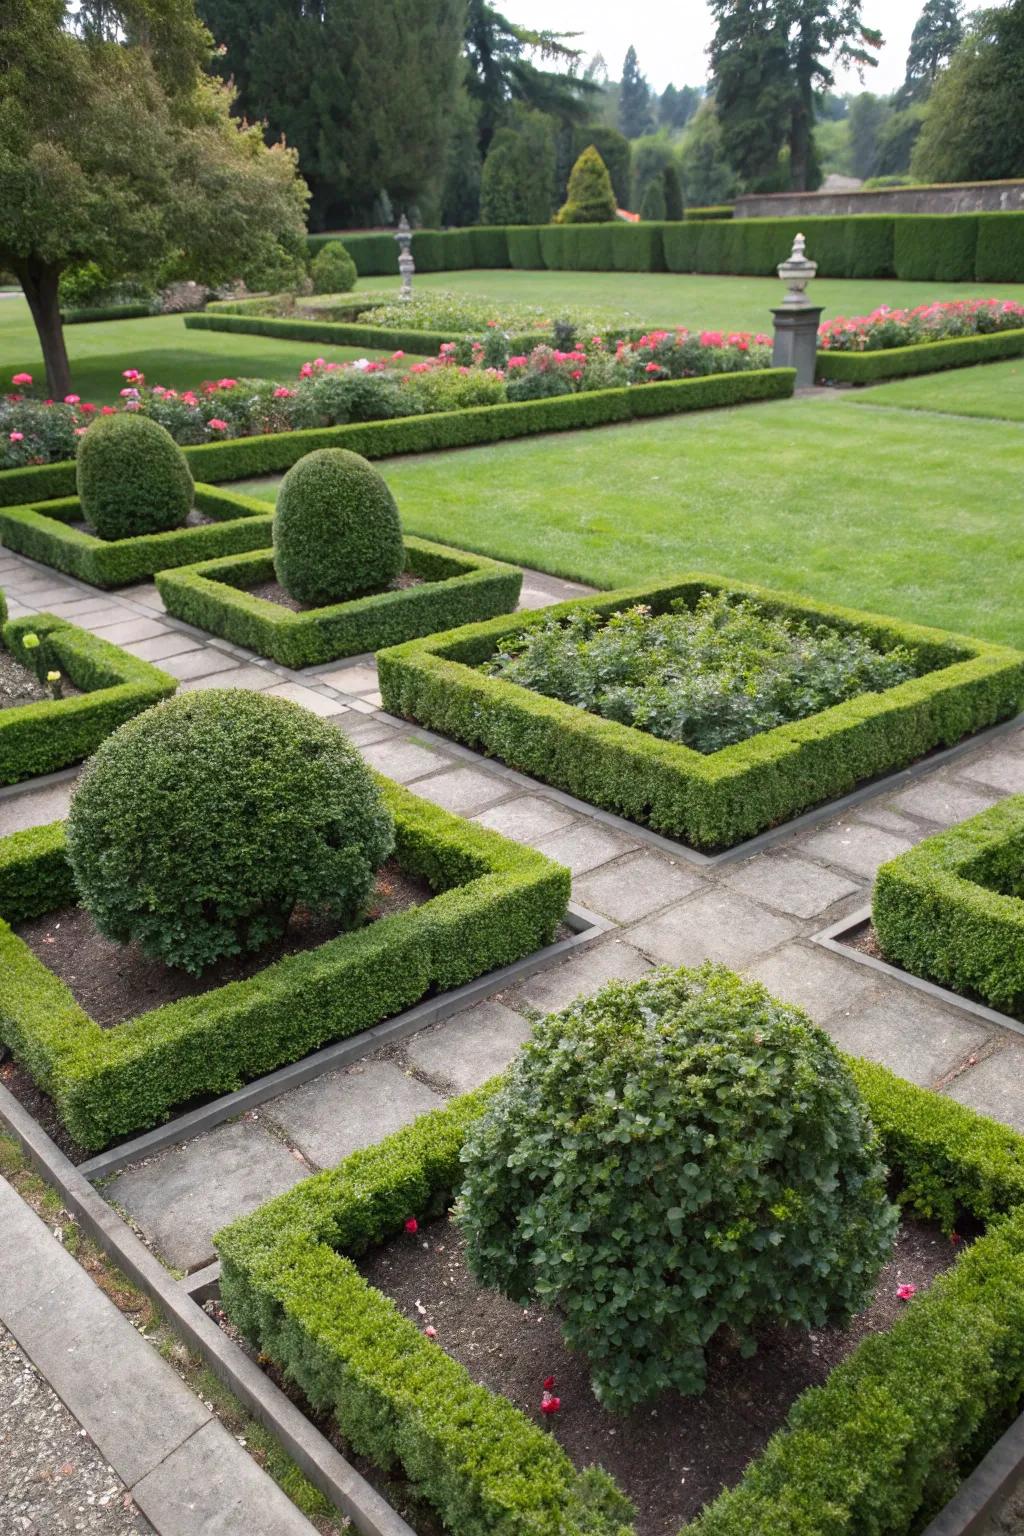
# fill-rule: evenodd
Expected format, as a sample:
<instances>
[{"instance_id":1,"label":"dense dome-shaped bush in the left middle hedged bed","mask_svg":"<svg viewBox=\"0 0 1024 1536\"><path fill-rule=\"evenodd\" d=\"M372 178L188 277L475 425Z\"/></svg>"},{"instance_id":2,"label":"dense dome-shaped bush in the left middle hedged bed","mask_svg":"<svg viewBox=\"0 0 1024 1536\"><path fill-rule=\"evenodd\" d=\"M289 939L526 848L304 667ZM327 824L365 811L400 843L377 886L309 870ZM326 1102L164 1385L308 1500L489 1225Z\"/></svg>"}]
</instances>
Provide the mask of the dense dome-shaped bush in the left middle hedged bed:
<instances>
[{"instance_id":1,"label":"dense dome-shaped bush in the left middle hedged bed","mask_svg":"<svg viewBox=\"0 0 1024 1536\"><path fill-rule=\"evenodd\" d=\"M180 694L121 725L68 817L83 906L109 938L198 972L295 906L355 922L395 823L347 737L287 699Z\"/></svg>"}]
</instances>

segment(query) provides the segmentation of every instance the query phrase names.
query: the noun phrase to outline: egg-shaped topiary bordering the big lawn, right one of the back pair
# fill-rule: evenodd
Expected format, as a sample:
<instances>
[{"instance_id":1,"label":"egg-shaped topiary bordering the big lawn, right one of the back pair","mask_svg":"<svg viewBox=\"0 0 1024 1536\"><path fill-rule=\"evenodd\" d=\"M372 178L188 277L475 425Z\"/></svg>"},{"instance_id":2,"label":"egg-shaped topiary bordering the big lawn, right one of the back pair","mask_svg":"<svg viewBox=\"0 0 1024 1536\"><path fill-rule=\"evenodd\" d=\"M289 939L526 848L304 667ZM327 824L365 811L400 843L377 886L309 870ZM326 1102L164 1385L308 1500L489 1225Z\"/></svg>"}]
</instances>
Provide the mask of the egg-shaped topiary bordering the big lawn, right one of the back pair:
<instances>
[{"instance_id":1,"label":"egg-shaped topiary bordering the big lawn, right one of the back pair","mask_svg":"<svg viewBox=\"0 0 1024 1536\"><path fill-rule=\"evenodd\" d=\"M296 602L381 591L404 565L395 498L362 455L318 449L292 465L278 492L273 568Z\"/></svg>"}]
</instances>

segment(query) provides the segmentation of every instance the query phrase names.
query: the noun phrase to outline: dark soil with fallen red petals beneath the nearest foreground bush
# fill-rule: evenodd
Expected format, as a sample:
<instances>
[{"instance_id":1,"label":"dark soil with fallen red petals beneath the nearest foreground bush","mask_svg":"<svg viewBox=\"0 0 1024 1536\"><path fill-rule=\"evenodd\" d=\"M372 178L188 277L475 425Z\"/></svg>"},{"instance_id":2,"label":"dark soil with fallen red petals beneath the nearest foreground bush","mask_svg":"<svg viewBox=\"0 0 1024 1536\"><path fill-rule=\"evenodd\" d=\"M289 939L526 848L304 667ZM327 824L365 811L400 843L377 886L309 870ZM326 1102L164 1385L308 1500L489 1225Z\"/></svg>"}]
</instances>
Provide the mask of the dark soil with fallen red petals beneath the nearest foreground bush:
<instances>
[{"instance_id":1,"label":"dark soil with fallen red petals beneath the nearest foreground bush","mask_svg":"<svg viewBox=\"0 0 1024 1536\"><path fill-rule=\"evenodd\" d=\"M738 1481L806 1387L823 1382L861 1339L889 1329L913 1304L900 1301L897 1287L926 1290L956 1253L956 1244L935 1227L906 1221L872 1306L849 1327L769 1329L751 1359L726 1341L715 1342L703 1396L663 1393L628 1415L600 1407L583 1356L565 1347L551 1313L517 1307L476 1284L451 1221L391 1240L361 1260L359 1269L418 1327L436 1327L438 1347L474 1381L550 1428L577 1467L600 1462L634 1501L639 1536L676 1536ZM556 1378L562 1404L551 1416L539 1412L547 1376Z\"/></svg>"}]
</instances>

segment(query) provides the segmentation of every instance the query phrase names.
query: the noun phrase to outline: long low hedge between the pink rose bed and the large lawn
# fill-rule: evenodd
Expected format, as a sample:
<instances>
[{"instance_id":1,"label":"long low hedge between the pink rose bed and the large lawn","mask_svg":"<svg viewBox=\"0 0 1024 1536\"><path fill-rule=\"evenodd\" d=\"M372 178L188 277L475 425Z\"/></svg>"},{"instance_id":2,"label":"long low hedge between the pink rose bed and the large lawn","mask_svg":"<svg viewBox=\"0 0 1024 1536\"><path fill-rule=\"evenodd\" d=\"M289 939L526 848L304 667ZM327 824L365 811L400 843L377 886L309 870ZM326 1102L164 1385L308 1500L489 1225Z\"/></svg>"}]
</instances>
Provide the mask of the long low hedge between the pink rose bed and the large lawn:
<instances>
[{"instance_id":1,"label":"long low hedge between the pink rose bed and the large lawn","mask_svg":"<svg viewBox=\"0 0 1024 1536\"><path fill-rule=\"evenodd\" d=\"M746 406L761 399L786 399L794 392L795 378L794 369L709 373L695 379L665 379L659 384L585 390L580 395L557 395L551 399L505 401L499 406L471 406L467 410L438 410L427 416L398 416L391 421L348 422L344 427L310 427L299 432L229 438L224 442L201 442L183 452L197 481L203 482L197 484L197 507L215 515L210 507L200 502L200 495L206 496L213 484L249 479L256 475L279 475L306 453L312 453L313 449L352 449L353 453L362 453L367 459L391 458L399 453L433 453L439 449L467 449L481 442L530 438L537 432L576 432L583 427L603 427L613 421L671 416L688 410L715 410L720 406ZM6 536L6 516L9 515L3 513L3 507L21 502L35 504L49 496L72 496L74 490L74 462L0 470L0 538L3 542L9 544ZM246 498L233 499L246 501ZM20 510L26 508L20 507ZM246 511L244 516L249 513ZM20 545L9 544L9 548L20 548ZM258 548L258 545L249 545L249 548ZM190 559L201 558L201 553L192 554ZM45 556L38 558L45 559ZM46 561L46 564L54 562ZM189 562L175 561L175 564Z\"/></svg>"}]
</instances>

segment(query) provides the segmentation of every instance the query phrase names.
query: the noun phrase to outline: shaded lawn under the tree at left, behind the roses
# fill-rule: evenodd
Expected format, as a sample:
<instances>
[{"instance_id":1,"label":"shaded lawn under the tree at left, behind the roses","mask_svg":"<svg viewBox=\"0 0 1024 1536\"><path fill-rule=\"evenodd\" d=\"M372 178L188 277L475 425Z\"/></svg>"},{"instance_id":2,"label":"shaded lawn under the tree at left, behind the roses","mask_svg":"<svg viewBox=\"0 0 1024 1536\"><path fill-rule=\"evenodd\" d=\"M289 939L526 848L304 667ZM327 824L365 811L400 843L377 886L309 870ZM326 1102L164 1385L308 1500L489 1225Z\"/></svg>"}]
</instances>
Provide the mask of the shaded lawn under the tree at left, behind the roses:
<instances>
[{"instance_id":1,"label":"shaded lawn under the tree at left, behind the roses","mask_svg":"<svg viewBox=\"0 0 1024 1536\"><path fill-rule=\"evenodd\" d=\"M235 336L216 330L186 330L181 315L146 319L95 321L68 326L68 355L74 390L83 399L106 404L117 399L124 369L141 369L149 384L193 389L209 378L273 378L290 381L307 358L332 361L367 355L365 347L329 347L310 341L278 341L269 336ZM378 356L378 353L368 353ZM45 378L43 361L28 304L21 298L0 300L0 392L11 375Z\"/></svg>"}]
</instances>

